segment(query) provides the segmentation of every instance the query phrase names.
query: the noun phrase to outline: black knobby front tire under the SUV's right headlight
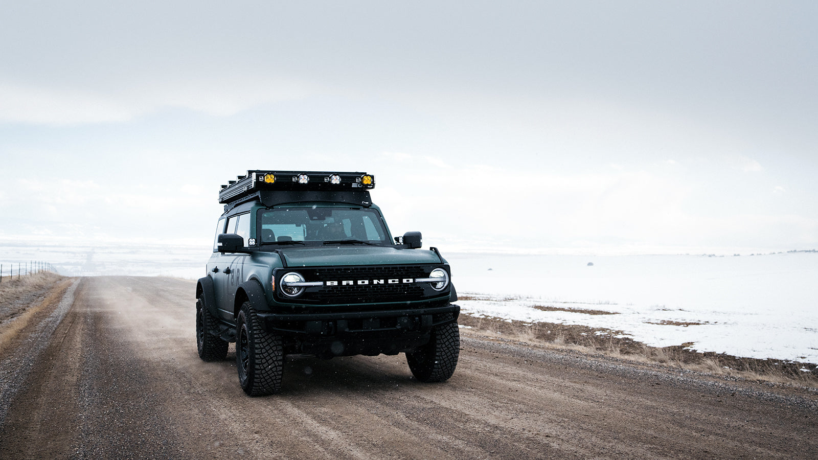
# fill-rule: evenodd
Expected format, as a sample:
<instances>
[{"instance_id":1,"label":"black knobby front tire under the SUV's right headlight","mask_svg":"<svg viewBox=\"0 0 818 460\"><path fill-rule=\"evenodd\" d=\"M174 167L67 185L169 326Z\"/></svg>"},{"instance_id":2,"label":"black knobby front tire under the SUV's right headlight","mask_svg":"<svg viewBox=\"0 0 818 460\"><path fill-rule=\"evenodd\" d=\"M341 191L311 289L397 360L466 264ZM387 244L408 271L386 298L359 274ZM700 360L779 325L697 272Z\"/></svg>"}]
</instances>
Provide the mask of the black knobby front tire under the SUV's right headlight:
<instances>
[{"instance_id":1,"label":"black knobby front tire under the SUV's right headlight","mask_svg":"<svg viewBox=\"0 0 818 460\"><path fill-rule=\"evenodd\" d=\"M429 343L407 353L412 375L419 381L446 381L455 372L460 356L460 331L457 322L432 329Z\"/></svg>"}]
</instances>

